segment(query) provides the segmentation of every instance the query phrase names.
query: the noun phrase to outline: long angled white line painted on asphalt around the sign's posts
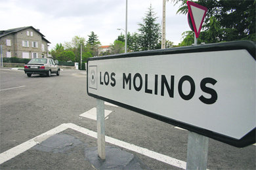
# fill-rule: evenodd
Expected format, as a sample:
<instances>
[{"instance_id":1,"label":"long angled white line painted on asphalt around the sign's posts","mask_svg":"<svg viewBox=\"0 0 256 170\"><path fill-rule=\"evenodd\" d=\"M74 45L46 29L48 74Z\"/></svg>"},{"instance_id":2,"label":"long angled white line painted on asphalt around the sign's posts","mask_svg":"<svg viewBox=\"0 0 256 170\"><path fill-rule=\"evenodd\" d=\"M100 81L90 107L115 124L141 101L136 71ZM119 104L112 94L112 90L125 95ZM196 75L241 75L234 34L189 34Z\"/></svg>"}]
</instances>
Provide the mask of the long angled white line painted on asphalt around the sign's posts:
<instances>
[{"instance_id":1,"label":"long angled white line painted on asphalt around the sign's posts","mask_svg":"<svg viewBox=\"0 0 256 170\"><path fill-rule=\"evenodd\" d=\"M42 142L43 140L47 139L48 137L51 137L52 135L55 135L56 133L60 133L61 131L64 131L68 128L74 129L75 131L79 131L85 135L89 135L90 137L97 138L97 133L95 131L85 129L84 127L77 126L72 123L61 124L60 126L57 126L54 129L51 129L37 137L34 137L33 139L30 139L29 141L26 141L25 143L19 144L18 146L15 146L14 148L11 148L11 149L1 153L0 154L0 164L4 163L5 161L11 160L15 156L18 156L18 154L21 154L22 152L25 152L26 150L32 148L33 146L35 146L35 144ZM114 139L112 137L105 136L105 140L107 143L111 143L116 146L120 146L120 147L126 148L128 150L132 150L133 152L137 152L139 154L148 156L155 160L162 161L164 163L168 163L169 165L173 165L175 167L186 169L185 161L177 160L175 158L171 158L169 156L159 154L158 152L154 152L152 150L148 150L147 148L142 148L142 147L136 146L134 144L119 141L118 139Z\"/></svg>"}]
</instances>

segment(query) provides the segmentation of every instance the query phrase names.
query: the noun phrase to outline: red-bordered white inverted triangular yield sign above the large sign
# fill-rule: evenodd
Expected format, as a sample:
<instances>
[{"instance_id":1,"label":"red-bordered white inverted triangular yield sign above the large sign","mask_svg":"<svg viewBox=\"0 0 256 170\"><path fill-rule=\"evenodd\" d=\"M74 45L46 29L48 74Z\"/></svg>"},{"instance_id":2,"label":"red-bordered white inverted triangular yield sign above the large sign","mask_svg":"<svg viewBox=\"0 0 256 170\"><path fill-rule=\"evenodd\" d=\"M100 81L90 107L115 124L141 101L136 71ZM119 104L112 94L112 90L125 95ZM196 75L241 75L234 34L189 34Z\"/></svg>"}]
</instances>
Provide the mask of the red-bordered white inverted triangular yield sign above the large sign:
<instances>
[{"instance_id":1,"label":"red-bordered white inverted triangular yield sign above the large sign","mask_svg":"<svg viewBox=\"0 0 256 170\"><path fill-rule=\"evenodd\" d=\"M207 8L191 1L186 1L186 4L188 5L188 12L192 20L196 38L198 38L203 25L203 19L205 18L207 12Z\"/></svg>"}]
</instances>

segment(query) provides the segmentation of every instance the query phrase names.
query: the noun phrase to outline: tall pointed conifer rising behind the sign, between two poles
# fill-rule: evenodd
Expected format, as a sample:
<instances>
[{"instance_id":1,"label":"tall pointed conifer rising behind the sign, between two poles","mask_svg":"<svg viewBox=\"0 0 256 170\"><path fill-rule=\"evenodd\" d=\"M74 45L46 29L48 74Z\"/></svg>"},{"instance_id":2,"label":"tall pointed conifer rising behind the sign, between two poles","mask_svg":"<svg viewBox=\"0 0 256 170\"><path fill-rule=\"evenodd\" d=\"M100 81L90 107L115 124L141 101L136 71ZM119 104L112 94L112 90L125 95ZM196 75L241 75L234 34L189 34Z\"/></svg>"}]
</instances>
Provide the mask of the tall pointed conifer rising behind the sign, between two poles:
<instances>
[{"instance_id":1,"label":"tall pointed conifer rising behind the sign, between two poles","mask_svg":"<svg viewBox=\"0 0 256 170\"><path fill-rule=\"evenodd\" d=\"M160 41L160 25L156 24L155 12L150 5L143 22L139 23L139 44L140 50L154 50Z\"/></svg>"}]
</instances>

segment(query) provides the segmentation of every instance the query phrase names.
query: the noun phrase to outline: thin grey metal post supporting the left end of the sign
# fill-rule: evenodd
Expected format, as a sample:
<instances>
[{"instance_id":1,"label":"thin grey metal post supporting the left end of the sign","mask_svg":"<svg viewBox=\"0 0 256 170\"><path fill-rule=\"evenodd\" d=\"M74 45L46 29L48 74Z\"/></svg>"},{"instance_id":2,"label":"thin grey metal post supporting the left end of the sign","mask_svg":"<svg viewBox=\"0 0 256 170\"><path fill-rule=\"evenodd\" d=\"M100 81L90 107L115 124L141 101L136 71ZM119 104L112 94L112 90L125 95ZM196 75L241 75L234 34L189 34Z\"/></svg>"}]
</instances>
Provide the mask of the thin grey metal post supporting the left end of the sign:
<instances>
[{"instance_id":1,"label":"thin grey metal post supporting the left end of the sign","mask_svg":"<svg viewBox=\"0 0 256 170\"><path fill-rule=\"evenodd\" d=\"M101 160L106 159L105 151L105 118L104 118L104 101L97 100L97 140L98 140L98 157Z\"/></svg>"}]
</instances>

